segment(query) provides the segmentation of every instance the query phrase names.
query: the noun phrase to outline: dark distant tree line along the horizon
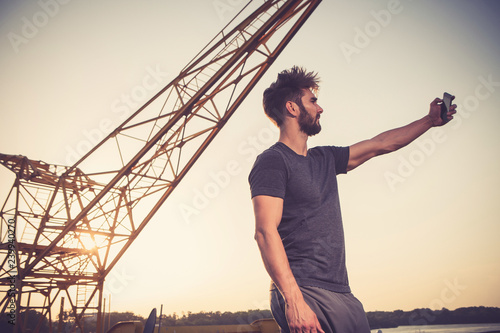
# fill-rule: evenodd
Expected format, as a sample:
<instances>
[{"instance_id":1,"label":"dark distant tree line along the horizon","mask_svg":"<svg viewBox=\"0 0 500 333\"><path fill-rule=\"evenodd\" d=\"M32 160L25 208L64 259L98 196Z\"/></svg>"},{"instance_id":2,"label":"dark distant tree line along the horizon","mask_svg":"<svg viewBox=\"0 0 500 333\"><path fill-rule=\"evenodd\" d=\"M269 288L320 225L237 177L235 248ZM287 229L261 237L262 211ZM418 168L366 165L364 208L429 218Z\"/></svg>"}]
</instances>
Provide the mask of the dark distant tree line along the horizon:
<instances>
[{"instance_id":1,"label":"dark distant tree line along the horizon","mask_svg":"<svg viewBox=\"0 0 500 333\"><path fill-rule=\"evenodd\" d=\"M29 310L26 315L27 329L33 330L41 314L35 310ZM389 328L406 325L446 325L446 324L484 324L500 323L500 308L494 307L468 307L456 310L431 310L415 309L412 311L371 311L367 312L371 329ZM198 312L182 313L177 315L163 314L161 316L162 326L205 326L205 325L245 325L259 319L272 318L269 310L248 310L238 312ZM84 333L95 332L95 316L88 316L85 319ZM120 321L141 321L146 322L146 318L132 312L111 312L105 314L104 324L109 329ZM53 329L57 330L59 319L52 322ZM74 318L69 313L63 315L63 332L69 331L74 324ZM33 325L31 327L30 325ZM13 326L8 323L8 318L0 318L0 332L12 332ZM41 332L49 332L49 323L44 318L41 325Z\"/></svg>"}]
</instances>

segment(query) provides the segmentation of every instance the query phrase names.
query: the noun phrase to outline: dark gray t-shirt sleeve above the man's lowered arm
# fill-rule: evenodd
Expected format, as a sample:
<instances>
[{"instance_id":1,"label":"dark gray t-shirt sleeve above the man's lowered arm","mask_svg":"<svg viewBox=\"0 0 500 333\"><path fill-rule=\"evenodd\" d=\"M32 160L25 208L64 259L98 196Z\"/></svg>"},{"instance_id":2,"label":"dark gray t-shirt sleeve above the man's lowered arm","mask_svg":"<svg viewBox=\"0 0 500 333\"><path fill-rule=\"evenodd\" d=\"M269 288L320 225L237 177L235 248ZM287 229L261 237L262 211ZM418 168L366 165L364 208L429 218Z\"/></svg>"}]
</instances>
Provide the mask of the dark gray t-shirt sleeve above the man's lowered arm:
<instances>
[{"instance_id":1,"label":"dark gray t-shirt sleeve above the man's lowered arm","mask_svg":"<svg viewBox=\"0 0 500 333\"><path fill-rule=\"evenodd\" d=\"M281 154L265 151L257 157L248 176L252 198L257 195L284 198L286 179L287 171Z\"/></svg>"}]
</instances>

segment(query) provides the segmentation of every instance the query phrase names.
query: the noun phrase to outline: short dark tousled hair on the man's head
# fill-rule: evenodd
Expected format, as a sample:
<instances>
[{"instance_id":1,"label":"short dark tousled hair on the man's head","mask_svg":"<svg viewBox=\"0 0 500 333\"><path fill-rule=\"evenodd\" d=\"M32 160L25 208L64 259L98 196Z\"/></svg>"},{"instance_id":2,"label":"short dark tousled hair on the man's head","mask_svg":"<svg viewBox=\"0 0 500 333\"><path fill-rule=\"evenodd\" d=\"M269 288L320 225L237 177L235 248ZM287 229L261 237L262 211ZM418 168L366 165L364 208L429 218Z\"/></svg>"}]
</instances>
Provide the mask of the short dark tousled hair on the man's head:
<instances>
[{"instance_id":1,"label":"short dark tousled hair on the man's head","mask_svg":"<svg viewBox=\"0 0 500 333\"><path fill-rule=\"evenodd\" d=\"M264 112L277 126L281 126L288 113L286 103L292 101L302 106L303 89L316 92L319 88L317 73L293 66L278 74L278 78L264 90Z\"/></svg>"}]
</instances>

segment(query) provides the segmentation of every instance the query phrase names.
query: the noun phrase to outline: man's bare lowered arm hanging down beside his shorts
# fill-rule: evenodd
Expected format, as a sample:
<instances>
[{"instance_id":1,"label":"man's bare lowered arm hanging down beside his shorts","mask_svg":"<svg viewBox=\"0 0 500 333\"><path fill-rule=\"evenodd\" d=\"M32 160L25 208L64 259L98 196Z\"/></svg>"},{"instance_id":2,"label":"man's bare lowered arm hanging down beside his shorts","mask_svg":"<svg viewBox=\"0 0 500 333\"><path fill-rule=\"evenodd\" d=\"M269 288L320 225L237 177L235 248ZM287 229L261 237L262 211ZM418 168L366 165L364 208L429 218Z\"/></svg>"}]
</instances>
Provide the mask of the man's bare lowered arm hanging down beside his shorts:
<instances>
[{"instance_id":1,"label":"man's bare lowered arm hanging down beside his shorts","mask_svg":"<svg viewBox=\"0 0 500 333\"><path fill-rule=\"evenodd\" d=\"M252 199L252 203L255 213L255 240L269 276L285 299L285 315L290 331L324 333L318 318L304 301L278 233L283 199L258 195Z\"/></svg>"}]
</instances>

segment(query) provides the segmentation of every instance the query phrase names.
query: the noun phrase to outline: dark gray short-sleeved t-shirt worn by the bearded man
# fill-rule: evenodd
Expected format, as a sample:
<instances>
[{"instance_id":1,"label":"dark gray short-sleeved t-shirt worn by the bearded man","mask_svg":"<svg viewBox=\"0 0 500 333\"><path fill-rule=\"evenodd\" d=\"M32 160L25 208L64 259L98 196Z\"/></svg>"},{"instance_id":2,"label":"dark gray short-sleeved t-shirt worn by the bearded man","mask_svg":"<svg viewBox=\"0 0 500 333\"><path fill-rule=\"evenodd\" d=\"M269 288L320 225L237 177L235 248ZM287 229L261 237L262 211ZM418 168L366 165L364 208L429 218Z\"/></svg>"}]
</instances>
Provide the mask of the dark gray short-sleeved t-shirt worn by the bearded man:
<instances>
[{"instance_id":1,"label":"dark gray short-sleeved t-shirt worn by the bearded man","mask_svg":"<svg viewBox=\"0 0 500 333\"><path fill-rule=\"evenodd\" d=\"M283 199L278 232L299 286L350 292L337 188L348 160L349 147L315 147L302 156L277 142L248 177L252 198Z\"/></svg>"}]
</instances>

